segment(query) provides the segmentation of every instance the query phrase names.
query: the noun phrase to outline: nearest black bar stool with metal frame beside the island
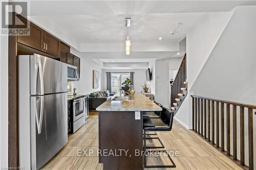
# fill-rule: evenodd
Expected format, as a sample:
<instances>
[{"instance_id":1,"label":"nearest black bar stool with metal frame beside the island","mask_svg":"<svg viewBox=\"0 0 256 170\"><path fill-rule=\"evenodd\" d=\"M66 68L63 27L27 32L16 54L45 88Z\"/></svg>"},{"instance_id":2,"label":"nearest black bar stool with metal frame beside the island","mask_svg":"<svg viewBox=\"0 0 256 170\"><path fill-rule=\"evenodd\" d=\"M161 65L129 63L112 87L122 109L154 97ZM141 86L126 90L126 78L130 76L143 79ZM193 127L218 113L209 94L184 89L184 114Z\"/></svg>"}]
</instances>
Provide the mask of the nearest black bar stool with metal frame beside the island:
<instances>
[{"instance_id":1,"label":"nearest black bar stool with metal frame beside the island","mask_svg":"<svg viewBox=\"0 0 256 170\"><path fill-rule=\"evenodd\" d=\"M146 147L146 132L150 132L150 131L170 131L170 130L172 130L174 113L169 111L165 107L163 107L162 109L163 110L161 111L160 118L143 119L143 130L144 130L143 150L144 150L144 152L146 151L146 148L148 148L148 147ZM166 150L147 151L147 152L164 152L164 153L168 154L168 152ZM172 165L147 165L146 164L146 156L144 155L144 167L145 168L147 168L147 167L153 167L153 168L157 168L157 167L176 167L174 161L172 160L172 158L170 158L169 154L168 154L168 158L172 162Z\"/></svg>"}]
</instances>

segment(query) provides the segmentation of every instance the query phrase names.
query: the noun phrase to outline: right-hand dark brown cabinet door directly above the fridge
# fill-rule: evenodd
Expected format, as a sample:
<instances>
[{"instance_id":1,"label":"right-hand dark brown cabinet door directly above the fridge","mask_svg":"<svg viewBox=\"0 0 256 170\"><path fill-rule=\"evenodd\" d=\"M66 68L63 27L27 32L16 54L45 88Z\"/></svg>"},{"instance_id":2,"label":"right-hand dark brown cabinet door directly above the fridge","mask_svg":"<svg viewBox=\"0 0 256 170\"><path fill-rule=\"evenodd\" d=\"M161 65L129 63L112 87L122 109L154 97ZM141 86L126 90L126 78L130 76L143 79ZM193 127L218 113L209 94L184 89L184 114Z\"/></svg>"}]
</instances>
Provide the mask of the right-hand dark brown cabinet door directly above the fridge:
<instances>
[{"instance_id":1,"label":"right-hand dark brown cabinet door directly above the fridge","mask_svg":"<svg viewBox=\"0 0 256 170\"><path fill-rule=\"evenodd\" d=\"M60 55L60 40L50 33L44 31L44 51L53 56Z\"/></svg>"}]
</instances>

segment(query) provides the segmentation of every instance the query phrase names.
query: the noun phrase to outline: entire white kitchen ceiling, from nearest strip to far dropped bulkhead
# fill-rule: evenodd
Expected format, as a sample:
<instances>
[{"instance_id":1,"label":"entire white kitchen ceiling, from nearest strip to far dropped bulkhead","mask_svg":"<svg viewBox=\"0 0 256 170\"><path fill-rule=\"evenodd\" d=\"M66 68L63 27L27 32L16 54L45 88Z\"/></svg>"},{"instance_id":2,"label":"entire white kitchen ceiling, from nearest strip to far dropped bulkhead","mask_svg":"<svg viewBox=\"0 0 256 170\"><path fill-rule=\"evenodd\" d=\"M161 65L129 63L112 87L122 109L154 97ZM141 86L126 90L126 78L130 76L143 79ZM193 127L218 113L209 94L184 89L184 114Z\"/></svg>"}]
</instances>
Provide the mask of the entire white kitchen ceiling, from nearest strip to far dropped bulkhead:
<instances>
[{"instance_id":1,"label":"entire white kitchen ceiling, from nearest strip to far dropped bulkhead","mask_svg":"<svg viewBox=\"0 0 256 170\"><path fill-rule=\"evenodd\" d=\"M150 62L180 57L179 42L208 12L255 1L30 1L30 18L95 62ZM132 53L124 54L124 18L131 17ZM179 28L177 23L181 23ZM53 30L53 31L51 31ZM175 35L170 34L175 30ZM61 34L60 34L61 33ZM162 37L162 40L158 38Z\"/></svg>"}]
</instances>

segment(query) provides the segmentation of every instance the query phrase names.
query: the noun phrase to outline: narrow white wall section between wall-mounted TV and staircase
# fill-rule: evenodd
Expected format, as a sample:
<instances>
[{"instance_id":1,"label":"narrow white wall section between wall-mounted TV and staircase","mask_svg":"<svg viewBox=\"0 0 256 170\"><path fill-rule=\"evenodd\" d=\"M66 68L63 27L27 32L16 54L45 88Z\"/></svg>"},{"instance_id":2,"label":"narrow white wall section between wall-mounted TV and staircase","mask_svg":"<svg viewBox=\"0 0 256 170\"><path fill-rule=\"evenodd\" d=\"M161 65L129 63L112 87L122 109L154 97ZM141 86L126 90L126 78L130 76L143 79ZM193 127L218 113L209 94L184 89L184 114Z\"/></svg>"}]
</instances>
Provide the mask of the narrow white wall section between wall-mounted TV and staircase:
<instances>
[{"instance_id":1,"label":"narrow white wall section between wall-mounted TV and staircase","mask_svg":"<svg viewBox=\"0 0 256 170\"><path fill-rule=\"evenodd\" d=\"M169 63L168 60L156 60L155 101L169 107Z\"/></svg>"}]
</instances>

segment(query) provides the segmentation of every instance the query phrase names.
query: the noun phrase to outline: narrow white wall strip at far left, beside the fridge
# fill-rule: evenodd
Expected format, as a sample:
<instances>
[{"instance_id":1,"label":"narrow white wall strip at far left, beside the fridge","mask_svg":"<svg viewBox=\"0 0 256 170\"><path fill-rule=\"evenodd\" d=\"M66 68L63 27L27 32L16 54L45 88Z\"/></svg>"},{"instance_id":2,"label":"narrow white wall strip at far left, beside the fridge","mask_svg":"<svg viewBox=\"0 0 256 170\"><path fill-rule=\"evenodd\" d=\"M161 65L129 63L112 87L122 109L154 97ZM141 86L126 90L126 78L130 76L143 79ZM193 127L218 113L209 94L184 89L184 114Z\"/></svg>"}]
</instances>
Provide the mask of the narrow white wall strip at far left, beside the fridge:
<instances>
[{"instance_id":1,"label":"narrow white wall strip at far left, beside the fridge","mask_svg":"<svg viewBox=\"0 0 256 170\"><path fill-rule=\"evenodd\" d=\"M0 167L8 167L8 36L0 36Z\"/></svg>"}]
</instances>

